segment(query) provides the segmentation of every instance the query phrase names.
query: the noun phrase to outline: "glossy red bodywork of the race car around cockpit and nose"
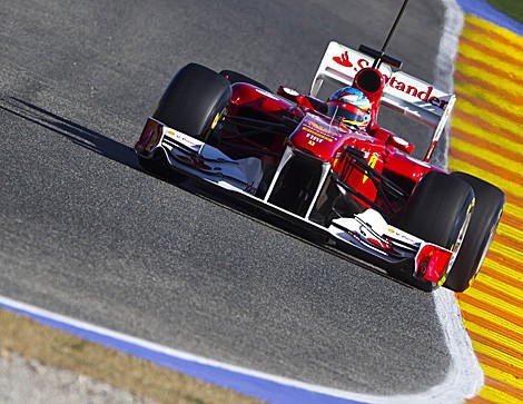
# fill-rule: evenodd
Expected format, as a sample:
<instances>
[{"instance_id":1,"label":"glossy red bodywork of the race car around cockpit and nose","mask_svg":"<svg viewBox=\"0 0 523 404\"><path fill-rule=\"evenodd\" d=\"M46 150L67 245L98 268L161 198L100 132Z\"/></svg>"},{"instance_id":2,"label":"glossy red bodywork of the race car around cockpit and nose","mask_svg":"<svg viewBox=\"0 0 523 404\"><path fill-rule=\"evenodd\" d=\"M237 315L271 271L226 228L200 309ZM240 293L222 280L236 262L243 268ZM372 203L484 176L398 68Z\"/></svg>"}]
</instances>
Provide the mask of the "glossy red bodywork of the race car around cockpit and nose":
<instances>
[{"instance_id":1,"label":"glossy red bodywork of the race car around cockpit and nose","mask_svg":"<svg viewBox=\"0 0 523 404\"><path fill-rule=\"evenodd\" d=\"M375 75L383 78L376 69L366 70L373 70ZM355 83L357 83L357 77ZM383 79L377 91L365 91L373 104L372 119L367 131L342 127L332 117L324 114L326 105L312 97L297 95L284 87L278 90L280 97L276 97L274 93L243 82L231 86L231 105L225 119L241 116L276 124L286 117L292 121L299 122L288 137L288 146L305 156L330 164L333 171L342 176L347 186L357 189L367 199L379 204L379 200L376 200L377 189L373 181L368 180L364 171L354 167L353 161L344 155L345 148L359 150L371 167L392 179L408 194L426 173L438 170L436 167L411 157L413 145L376 124L384 85L385 80ZM283 154L287 146L287 135L239 137L236 136L237 131L238 129L231 130L230 134L224 131L225 144L220 145L221 150L241 157L241 151L239 151L241 149L237 146L244 146L248 148L249 156L259 157L265 165L276 166L279 162L279 157L275 156ZM230 136L230 142L227 142L228 136ZM272 152L275 156L267 156L264 152L257 155L256 149ZM363 200L359 201L364 206L366 205Z\"/></svg>"}]
</instances>

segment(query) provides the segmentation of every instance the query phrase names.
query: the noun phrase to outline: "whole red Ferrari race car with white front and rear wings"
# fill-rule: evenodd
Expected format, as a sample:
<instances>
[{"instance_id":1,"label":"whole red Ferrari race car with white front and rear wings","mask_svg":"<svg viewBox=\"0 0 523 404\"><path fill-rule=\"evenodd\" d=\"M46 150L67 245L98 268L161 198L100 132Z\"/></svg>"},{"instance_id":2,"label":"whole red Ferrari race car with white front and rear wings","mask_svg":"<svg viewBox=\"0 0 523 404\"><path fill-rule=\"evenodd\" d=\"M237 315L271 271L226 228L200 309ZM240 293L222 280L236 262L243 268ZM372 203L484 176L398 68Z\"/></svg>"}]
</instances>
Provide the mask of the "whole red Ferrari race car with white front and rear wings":
<instances>
[{"instance_id":1,"label":"whole red Ferrari race car with white front and rear wings","mask_svg":"<svg viewBox=\"0 0 523 404\"><path fill-rule=\"evenodd\" d=\"M135 145L140 165L197 177L326 245L424 290L468 287L503 193L430 164L455 97L401 71L384 51L330 42L309 95L235 71L184 67ZM323 82L339 89L323 101ZM379 127L389 107L434 128L425 158Z\"/></svg>"}]
</instances>

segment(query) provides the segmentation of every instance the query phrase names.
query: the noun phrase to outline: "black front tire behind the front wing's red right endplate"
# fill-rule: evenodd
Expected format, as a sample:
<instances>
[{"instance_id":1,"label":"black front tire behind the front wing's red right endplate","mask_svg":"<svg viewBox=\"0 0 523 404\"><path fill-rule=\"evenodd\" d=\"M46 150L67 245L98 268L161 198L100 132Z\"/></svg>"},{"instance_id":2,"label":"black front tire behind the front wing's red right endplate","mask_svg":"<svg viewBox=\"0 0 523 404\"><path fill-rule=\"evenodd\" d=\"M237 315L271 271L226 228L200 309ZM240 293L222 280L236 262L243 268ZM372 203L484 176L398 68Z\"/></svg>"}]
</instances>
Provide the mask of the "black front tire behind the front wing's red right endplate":
<instances>
[{"instance_id":1,"label":"black front tire behind the front wing's red right endplate","mask_svg":"<svg viewBox=\"0 0 523 404\"><path fill-rule=\"evenodd\" d=\"M425 242L457 252L473 206L474 191L467 183L431 171L414 188L398 227Z\"/></svg>"}]
</instances>

